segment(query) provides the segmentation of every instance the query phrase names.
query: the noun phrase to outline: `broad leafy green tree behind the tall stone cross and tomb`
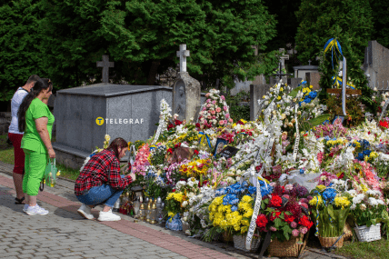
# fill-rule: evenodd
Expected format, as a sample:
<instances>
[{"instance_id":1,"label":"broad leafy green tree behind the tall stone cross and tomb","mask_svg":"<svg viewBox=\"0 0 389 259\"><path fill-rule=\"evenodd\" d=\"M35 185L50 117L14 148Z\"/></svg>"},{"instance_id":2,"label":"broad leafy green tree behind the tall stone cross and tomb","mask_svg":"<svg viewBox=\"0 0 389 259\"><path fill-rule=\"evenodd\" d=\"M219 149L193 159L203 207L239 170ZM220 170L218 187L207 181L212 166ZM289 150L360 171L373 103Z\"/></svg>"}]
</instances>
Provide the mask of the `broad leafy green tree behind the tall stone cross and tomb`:
<instances>
[{"instance_id":1,"label":"broad leafy green tree behind the tall stone cross and tomb","mask_svg":"<svg viewBox=\"0 0 389 259\"><path fill-rule=\"evenodd\" d=\"M252 45L264 45L274 34L274 17L261 0L111 1L99 31L115 59L144 64L139 73L147 85L168 66L175 66L178 45L191 51L188 71L206 85L216 78L253 78L258 65ZM271 61L272 55L260 55ZM145 65L146 64L146 65Z\"/></svg>"}]
</instances>

